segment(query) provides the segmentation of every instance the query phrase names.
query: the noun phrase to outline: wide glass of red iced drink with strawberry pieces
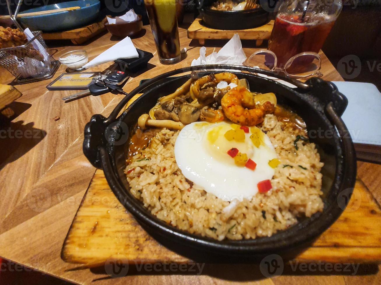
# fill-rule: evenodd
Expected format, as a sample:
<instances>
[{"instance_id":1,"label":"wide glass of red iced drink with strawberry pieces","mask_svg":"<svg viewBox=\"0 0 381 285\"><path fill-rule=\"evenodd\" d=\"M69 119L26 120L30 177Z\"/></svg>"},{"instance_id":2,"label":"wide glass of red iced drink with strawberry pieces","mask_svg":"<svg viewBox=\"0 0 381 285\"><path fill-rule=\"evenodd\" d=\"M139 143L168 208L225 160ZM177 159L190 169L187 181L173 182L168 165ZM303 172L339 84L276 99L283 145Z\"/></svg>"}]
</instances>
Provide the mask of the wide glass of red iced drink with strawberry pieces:
<instances>
[{"instance_id":1,"label":"wide glass of red iced drink with strawberry pieces","mask_svg":"<svg viewBox=\"0 0 381 285\"><path fill-rule=\"evenodd\" d=\"M285 0L269 40L277 67L285 67L291 57L301 52L318 53L342 8L341 0ZM309 63L305 57L303 62L294 62L293 68L302 70Z\"/></svg>"}]
</instances>

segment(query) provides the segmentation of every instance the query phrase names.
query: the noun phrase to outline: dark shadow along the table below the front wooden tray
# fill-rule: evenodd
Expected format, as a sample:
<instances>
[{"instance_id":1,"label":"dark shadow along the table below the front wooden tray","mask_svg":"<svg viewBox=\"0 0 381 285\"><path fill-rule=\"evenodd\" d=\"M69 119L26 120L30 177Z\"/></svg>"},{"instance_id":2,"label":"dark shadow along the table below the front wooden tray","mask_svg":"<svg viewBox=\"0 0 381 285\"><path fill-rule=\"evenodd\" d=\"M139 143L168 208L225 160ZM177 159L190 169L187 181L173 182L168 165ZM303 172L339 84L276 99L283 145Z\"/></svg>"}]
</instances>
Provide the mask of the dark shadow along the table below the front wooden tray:
<instances>
[{"instance_id":1,"label":"dark shadow along the table below the front wooden tray","mask_svg":"<svg viewBox=\"0 0 381 285\"><path fill-rule=\"evenodd\" d=\"M228 262L228 261L226 261ZM175 264L175 265L172 265ZM147 264L132 263L128 265L127 272L123 270L110 275L109 270L102 268L93 268L94 274L107 274L107 277L94 279L93 281L122 278L133 275L208 275L219 279L247 282L266 279L276 276L328 276L328 275L372 275L378 273L376 264L353 264L353 263L288 263L284 264L283 271L277 273L263 273L263 268L259 264L209 264L209 263L156 263ZM155 269L156 268L156 269ZM160 270L158 270L160 268ZM334 269L336 268L336 270Z\"/></svg>"}]
</instances>

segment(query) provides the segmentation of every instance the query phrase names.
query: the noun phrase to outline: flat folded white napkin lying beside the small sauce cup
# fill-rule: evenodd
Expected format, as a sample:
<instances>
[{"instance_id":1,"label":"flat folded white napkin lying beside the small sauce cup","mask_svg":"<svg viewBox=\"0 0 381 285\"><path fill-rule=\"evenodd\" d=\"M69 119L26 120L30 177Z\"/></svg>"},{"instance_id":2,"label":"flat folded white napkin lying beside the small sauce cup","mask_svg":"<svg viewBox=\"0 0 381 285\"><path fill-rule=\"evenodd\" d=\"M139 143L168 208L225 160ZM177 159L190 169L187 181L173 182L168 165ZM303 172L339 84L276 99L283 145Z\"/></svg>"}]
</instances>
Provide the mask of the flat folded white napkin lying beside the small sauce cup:
<instances>
[{"instance_id":1,"label":"flat folded white napkin lying beside the small sauce cup","mask_svg":"<svg viewBox=\"0 0 381 285\"><path fill-rule=\"evenodd\" d=\"M121 40L119 43L114 44L106 51L102 52L95 59L86 63L83 67L89 68L94 65L102 64L105 62L113 61L115 59L132 59L134 57L139 57L138 51L134 47L129 36Z\"/></svg>"}]
</instances>

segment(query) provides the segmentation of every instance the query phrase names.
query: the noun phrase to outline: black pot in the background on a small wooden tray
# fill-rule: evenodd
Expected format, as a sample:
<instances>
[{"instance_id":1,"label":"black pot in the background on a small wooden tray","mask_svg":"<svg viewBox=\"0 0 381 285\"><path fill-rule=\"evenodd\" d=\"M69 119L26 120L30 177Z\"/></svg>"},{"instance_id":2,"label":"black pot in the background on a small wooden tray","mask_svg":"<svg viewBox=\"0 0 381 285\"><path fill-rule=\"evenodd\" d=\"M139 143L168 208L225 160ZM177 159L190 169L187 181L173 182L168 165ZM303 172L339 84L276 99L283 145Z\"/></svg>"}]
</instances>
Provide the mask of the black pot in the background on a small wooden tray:
<instances>
[{"instance_id":1,"label":"black pot in the background on a small wooden tray","mask_svg":"<svg viewBox=\"0 0 381 285\"><path fill-rule=\"evenodd\" d=\"M262 7L242 11L219 11L210 9L216 0L199 0L203 25L217 30L245 30L260 27L269 19L269 12Z\"/></svg>"}]
</instances>

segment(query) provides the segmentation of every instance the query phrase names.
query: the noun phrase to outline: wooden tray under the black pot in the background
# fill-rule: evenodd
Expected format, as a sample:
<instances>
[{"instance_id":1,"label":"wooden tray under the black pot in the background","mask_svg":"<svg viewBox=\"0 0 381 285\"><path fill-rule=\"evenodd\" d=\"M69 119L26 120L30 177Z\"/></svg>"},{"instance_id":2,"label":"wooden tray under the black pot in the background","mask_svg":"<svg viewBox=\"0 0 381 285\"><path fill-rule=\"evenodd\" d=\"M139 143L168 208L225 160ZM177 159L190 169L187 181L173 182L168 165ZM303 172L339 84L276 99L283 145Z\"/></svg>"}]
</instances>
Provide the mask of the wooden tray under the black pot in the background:
<instances>
[{"instance_id":1,"label":"wooden tray under the black pot in the background","mask_svg":"<svg viewBox=\"0 0 381 285\"><path fill-rule=\"evenodd\" d=\"M202 20L195 19L188 28L188 38L199 40L200 44L205 44L206 39L230 40L235 33L238 33L241 40L256 40L256 46L260 46L263 40L268 40L274 27L274 20L266 25L247 30L216 30L202 25Z\"/></svg>"}]
</instances>

